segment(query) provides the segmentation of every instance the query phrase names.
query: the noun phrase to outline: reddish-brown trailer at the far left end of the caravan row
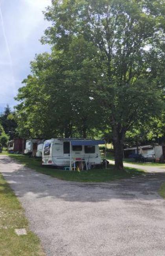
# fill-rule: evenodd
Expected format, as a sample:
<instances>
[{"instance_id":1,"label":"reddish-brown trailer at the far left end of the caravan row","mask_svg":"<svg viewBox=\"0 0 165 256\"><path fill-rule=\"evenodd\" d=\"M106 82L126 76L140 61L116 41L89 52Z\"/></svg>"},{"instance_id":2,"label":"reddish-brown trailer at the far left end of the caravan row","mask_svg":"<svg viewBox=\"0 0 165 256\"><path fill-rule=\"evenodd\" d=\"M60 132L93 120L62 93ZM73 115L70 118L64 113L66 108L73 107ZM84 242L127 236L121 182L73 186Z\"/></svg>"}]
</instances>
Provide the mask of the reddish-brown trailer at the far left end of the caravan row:
<instances>
[{"instance_id":1,"label":"reddish-brown trailer at the far left end of the caravan row","mask_svg":"<svg viewBox=\"0 0 165 256\"><path fill-rule=\"evenodd\" d=\"M25 139L13 139L8 143L8 152L9 153L24 153L25 148Z\"/></svg>"}]
</instances>

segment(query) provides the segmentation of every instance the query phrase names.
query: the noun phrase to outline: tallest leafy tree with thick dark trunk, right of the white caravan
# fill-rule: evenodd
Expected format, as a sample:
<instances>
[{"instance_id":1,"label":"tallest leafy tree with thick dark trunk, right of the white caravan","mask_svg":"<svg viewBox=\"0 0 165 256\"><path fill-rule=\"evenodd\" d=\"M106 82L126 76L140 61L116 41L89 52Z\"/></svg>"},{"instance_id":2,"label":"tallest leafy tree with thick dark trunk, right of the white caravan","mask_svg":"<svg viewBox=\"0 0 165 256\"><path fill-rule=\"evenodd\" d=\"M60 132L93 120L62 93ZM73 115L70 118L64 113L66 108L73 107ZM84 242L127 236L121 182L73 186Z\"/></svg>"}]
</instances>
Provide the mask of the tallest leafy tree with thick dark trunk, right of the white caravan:
<instances>
[{"instance_id":1,"label":"tallest leafy tree with thick dark trunk, right of the white caravan","mask_svg":"<svg viewBox=\"0 0 165 256\"><path fill-rule=\"evenodd\" d=\"M112 127L118 169L127 130L161 110L164 13L158 0L53 0L45 13L52 26L42 43L67 52L81 36L97 49L95 95Z\"/></svg>"}]
</instances>

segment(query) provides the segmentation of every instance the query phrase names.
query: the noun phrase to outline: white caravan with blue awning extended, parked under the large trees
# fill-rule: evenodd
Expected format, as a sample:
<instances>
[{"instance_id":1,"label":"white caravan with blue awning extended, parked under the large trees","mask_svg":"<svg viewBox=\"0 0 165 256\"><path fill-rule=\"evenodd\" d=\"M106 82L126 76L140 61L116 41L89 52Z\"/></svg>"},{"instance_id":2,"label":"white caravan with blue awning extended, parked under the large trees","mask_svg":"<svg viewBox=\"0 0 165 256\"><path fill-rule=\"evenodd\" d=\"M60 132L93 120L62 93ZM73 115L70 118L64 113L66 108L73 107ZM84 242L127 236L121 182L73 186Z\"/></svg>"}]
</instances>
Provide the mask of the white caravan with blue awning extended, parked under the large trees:
<instances>
[{"instance_id":1,"label":"white caravan with blue awning extended, parked under the large trees","mask_svg":"<svg viewBox=\"0 0 165 256\"><path fill-rule=\"evenodd\" d=\"M75 166L75 162L83 162L84 165L101 164L99 145L105 141L85 139L49 139L44 142L42 148L42 165L54 165L59 167Z\"/></svg>"}]
</instances>

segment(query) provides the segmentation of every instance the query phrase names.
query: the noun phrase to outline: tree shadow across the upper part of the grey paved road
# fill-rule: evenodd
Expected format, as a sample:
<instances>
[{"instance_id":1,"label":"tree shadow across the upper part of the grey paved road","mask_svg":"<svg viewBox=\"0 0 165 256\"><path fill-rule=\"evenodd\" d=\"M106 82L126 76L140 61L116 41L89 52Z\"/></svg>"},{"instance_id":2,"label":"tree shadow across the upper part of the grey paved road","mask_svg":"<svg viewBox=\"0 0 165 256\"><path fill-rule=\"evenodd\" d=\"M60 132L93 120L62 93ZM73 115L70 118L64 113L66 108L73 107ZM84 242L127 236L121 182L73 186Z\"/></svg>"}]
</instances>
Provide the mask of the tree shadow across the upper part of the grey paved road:
<instances>
[{"instance_id":1,"label":"tree shadow across the upper part of the grey paved road","mask_svg":"<svg viewBox=\"0 0 165 256\"><path fill-rule=\"evenodd\" d=\"M15 160L0 158L0 171L18 197L52 197L70 202L101 202L113 198L121 200L161 199L158 189L165 182L165 173L147 173L107 183L81 183L58 180L37 173Z\"/></svg>"}]
</instances>

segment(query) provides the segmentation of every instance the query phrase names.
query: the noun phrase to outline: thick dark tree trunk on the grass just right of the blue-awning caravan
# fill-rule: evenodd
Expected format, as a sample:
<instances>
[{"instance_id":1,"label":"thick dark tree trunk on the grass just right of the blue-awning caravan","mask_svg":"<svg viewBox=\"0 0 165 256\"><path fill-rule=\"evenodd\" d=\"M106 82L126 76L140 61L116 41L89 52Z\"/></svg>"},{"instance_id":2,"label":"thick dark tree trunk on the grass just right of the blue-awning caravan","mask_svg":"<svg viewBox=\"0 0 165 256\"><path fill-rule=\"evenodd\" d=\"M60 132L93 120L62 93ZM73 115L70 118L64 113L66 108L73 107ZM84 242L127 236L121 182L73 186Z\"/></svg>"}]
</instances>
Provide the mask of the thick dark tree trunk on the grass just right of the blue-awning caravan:
<instances>
[{"instance_id":1,"label":"thick dark tree trunk on the grass just right of the blue-awning caravan","mask_svg":"<svg viewBox=\"0 0 165 256\"><path fill-rule=\"evenodd\" d=\"M115 153L115 167L118 170L123 169L123 137L122 132L117 132L117 128L113 127L113 144Z\"/></svg>"}]
</instances>

